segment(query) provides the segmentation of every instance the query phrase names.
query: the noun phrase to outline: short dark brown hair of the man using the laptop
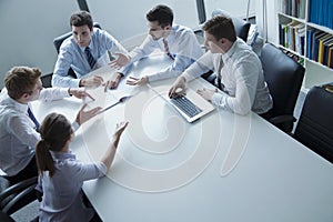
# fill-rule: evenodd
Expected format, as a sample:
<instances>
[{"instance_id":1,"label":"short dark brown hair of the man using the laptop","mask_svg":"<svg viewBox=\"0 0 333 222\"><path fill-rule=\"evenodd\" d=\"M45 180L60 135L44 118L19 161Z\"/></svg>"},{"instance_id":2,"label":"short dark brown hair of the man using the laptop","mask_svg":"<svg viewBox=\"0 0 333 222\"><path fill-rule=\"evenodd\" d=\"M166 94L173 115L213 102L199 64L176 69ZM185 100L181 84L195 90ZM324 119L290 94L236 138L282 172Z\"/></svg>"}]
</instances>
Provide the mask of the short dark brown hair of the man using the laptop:
<instances>
[{"instance_id":1,"label":"short dark brown hair of the man using the laptop","mask_svg":"<svg viewBox=\"0 0 333 222\"><path fill-rule=\"evenodd\" d=\"M202 29L203 31L206 31L215 37L216 40L222 38L225 38L232 42L236 40L236 33L232 19L225 16L216 16L210 19L203 24Z\"/></svg>"}]
</instances>

